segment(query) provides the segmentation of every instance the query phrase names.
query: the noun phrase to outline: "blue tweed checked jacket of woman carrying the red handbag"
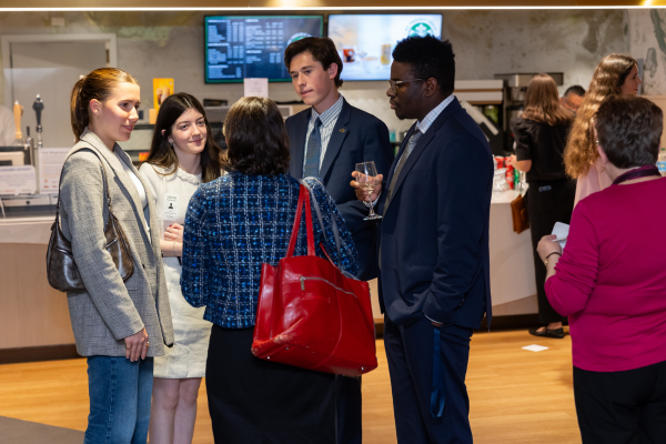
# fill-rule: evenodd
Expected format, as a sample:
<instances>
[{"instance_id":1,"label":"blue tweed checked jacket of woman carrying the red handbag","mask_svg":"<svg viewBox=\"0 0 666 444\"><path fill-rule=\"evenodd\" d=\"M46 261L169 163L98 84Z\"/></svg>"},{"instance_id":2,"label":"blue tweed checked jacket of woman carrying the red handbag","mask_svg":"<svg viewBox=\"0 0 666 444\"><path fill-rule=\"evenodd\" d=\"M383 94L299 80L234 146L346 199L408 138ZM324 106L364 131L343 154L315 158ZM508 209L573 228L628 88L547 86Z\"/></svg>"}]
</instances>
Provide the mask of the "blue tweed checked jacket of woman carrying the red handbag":
<instances>
[{"instance_id":1,"label":"blue tweed checked jacket of woman carrying the red handbag","mask_svg":"<svg viewBox=\"0 0 666 444\"><path fill-rule=\"evenodd\" d=\"M306 183L320 205L324 231L313 209L316 255L331 259L356 274L356 248L335 202L324 185ZM183 296L193 306L204 306L203 317L225 329L254 325L261 266L278 265L286 254L296 204L299 181L284 175L245 175L232 172L204 183L192 196L183 234ZM305 210L294 255L306 254ZM341 243L337 254L332 219Z\"/></svg>"}]
</instances>

